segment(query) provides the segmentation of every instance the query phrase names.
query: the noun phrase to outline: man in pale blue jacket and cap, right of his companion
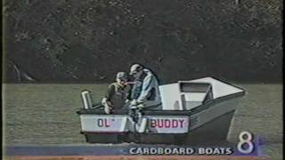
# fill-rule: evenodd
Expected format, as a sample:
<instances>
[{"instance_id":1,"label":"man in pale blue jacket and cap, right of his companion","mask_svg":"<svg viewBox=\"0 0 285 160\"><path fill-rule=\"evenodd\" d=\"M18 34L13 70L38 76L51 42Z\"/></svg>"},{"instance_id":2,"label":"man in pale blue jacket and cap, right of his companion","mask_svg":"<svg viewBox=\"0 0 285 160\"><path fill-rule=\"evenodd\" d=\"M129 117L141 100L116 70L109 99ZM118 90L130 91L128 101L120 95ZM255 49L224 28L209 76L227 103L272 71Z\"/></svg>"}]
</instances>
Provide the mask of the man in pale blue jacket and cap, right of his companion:
<instances>
[{"instance_id":1,"label":"man in pale blue jacket and cap, right of his companion","mask_svg":"<svg viewBox=\"0 0 285 160\"><path fill-rule=\"evenodd\" d=\"M130 68L130 75L134 76L131 105L138 108L161 109L159 82L151 70L134 64Z\"/></svg>"}]
</instances>

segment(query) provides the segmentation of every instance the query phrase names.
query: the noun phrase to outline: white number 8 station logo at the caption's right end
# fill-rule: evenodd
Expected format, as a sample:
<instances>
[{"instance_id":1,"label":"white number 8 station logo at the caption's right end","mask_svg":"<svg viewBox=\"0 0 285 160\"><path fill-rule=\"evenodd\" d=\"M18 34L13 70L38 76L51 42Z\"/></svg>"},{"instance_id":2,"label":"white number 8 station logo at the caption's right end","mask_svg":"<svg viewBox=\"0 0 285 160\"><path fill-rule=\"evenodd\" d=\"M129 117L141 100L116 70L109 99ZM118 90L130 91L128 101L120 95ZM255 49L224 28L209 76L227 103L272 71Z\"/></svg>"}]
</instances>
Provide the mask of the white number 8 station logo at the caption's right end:
<instances>
[{"instance_id":1,"label":"white number 8 station logo at the caption's right end","mask_svg":"<svg viewBox=\"0 0 285 160\"><path fill-rule=\"evenodd\" d=\"M244 136L247 136L245 139ZM250 132L240 132L239 136L240 142L238 143L238 150L242 154L250 154L254 150L254 144L252 142L253 136ZM243 145L248 144L248 148L242 148Z\"/></svg>"}]
</instances>

